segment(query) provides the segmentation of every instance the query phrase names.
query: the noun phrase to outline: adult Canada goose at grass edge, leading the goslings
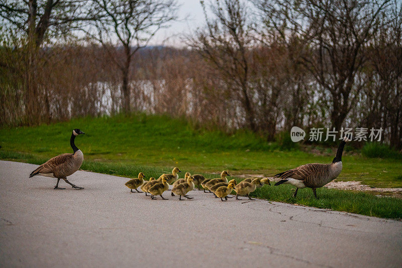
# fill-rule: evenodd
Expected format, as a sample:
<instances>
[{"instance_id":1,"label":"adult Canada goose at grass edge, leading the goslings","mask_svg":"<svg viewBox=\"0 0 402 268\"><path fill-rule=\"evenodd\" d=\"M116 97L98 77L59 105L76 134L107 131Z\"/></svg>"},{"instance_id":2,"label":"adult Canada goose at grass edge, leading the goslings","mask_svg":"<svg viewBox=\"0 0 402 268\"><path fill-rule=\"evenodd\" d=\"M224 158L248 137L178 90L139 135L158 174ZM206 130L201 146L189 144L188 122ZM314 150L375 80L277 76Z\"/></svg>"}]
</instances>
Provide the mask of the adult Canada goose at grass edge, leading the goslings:
<instances>
[{"instance_id":1,"label":"adult Canada goose at grass edge, leading the goslings","mask_svg":"<svg viewBox=\"0 0 402 268\"><path fill-rule=\"evenodd\" d=\"M281 180L275 183L275 186L282 183L296 186L296 191L294 192L293 197L297 195L298 188L308 187L313 190L314 196L317 198L316 189L323 187L341 174L342 153L347 142L350 142L350 140L347 137L343 138L331 164L306 164L278 173L274 178L280 178Z\"/></svg>"}]
</instances>

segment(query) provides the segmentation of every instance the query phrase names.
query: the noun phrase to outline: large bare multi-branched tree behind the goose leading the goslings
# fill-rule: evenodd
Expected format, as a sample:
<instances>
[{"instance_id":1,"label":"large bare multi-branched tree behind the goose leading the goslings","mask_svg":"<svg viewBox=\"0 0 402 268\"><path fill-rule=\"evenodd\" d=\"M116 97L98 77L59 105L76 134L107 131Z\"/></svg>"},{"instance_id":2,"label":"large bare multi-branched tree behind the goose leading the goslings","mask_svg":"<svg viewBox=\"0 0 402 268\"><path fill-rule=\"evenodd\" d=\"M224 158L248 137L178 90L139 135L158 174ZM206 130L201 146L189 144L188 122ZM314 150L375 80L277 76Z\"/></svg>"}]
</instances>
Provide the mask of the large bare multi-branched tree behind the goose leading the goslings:
<instances>
[{"instance_id":1,"label":"large bare multi-branched tree behind the goose leading the goslings","mask_svg":"<svg viewBox=\"0 0 402 268\"><path fill-rule=\"evenodd\" d=\"M340 129L367 79L365 47L377 31L378 15L390 0L260 0L265 26L287 42L294 37L310 53L302 63L331 96L330 119Z\"/></svg>"}]
</instances>

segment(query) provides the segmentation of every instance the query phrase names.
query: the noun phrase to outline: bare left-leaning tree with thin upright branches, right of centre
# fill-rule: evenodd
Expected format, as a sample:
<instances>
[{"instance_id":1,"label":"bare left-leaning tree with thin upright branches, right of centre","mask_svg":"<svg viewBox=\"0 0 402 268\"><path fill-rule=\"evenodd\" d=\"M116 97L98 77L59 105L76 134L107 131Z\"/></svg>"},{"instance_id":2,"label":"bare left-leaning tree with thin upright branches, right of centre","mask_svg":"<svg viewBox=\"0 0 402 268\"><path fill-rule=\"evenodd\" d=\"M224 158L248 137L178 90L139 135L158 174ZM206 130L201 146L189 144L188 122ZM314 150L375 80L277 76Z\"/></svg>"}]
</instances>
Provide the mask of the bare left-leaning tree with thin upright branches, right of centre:
<instances>
[{"instance_id":1,"label":"bare left-leaning tree with thin upright branches, right of centre","mask_svg":"<svg viewBox=\"0 0 402 268\"><path fill-rule=\"evenodd\" d=\"M213 18L210 18L204 1L200 3L207 25L205 29L197 29L195 35L187 39L187 43L219 70L229 94L240 100L248 126L255 131L257 125L247 55L253 39L250 36L246 6L239 0L216 1L209 5L213 14Z\"/></svg>"}]
</instances>

